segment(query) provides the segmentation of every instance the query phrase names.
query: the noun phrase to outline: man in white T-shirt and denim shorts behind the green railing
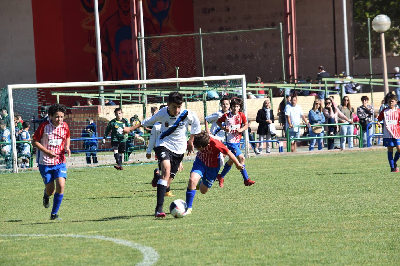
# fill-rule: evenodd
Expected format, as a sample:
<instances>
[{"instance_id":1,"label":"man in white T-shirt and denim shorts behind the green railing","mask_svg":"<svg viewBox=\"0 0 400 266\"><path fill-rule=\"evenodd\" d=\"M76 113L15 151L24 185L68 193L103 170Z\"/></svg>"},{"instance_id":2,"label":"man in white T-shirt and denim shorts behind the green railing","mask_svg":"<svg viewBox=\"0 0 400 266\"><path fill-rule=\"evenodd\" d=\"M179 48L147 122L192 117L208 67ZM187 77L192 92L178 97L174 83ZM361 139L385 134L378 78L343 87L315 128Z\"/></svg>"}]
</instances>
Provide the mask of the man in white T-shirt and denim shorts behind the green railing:
<instances>
[{"instance_id":1,"label":"man in white T-shirt and denim shorts behind the green railing","mask_svg":"<svg viewBox=\"0 0 400 266\"><path fill-rule=\"evenodd\" d=\"M300 105L297 105L297 97L290 97L290 104L285 107L286 116L286 127L289 128L288 134L289 139L300 137L300 128L294 126L300 126L300 121L303 119L304 124L309 124L307 118L304 116L303 109ZM296 152L297 141L293 141L293 145L290 147L292 152Z\"/></svg>"}]
</instances>

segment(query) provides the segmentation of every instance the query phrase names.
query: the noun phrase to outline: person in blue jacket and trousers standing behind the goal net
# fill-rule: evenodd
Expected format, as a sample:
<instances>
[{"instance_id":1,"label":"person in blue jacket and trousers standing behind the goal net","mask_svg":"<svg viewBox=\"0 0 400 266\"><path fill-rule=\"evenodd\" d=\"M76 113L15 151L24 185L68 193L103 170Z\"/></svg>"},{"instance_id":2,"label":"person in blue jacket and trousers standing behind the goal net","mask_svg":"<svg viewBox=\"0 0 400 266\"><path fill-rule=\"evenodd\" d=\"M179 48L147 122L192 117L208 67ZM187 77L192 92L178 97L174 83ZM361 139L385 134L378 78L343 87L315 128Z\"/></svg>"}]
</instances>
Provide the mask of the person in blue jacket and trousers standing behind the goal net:
<instances>
[{"instance_id":1,"label":"person in blue jacket and trousers standing behind the goal net","mask_svg":"<svg viewBox=\"0 0 400 266\"><path fill-rule=\"evenodd\" d=\"M82 130L81 138L86 138L83 142L83 148L86 152L86 164L90 164L90 158L93 159L93 164L97 164L97 126L93 118L86 120L88 125Z\"/></svg>"}]
</instances>

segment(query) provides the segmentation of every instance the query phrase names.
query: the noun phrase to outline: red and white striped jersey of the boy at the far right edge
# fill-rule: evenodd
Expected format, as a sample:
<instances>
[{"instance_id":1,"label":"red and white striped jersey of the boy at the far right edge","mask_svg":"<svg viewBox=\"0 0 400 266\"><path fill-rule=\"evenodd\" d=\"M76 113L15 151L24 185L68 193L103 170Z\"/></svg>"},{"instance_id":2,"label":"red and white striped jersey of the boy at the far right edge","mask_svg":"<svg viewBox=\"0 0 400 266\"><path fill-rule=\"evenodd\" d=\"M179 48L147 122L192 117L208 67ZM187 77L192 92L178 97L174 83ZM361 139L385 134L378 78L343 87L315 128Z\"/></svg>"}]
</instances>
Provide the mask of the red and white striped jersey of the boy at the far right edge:
<instances>
[{"instance_id":1,"label":"red and white striped jersey of the boy at the far right edge","mask_svg":"<svg viewBox=\"0 0 400 266\"><path fill-rule=\"evenodd\" d=\"M390 110L389 108L384 108L379 116L378 121L383 120L383 137L384 138L400 138L400 109L395 108Z\"/></svg>"}]
</instances>

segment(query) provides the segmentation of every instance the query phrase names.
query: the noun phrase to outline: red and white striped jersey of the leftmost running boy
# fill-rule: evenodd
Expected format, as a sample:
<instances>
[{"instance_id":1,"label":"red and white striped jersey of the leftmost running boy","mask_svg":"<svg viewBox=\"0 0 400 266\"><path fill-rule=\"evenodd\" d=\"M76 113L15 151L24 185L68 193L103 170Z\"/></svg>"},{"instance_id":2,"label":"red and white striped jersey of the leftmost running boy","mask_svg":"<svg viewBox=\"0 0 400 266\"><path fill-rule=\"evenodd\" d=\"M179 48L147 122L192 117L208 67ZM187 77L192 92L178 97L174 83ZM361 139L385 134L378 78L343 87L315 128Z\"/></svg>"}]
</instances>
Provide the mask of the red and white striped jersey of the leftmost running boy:
<instances>
[{"instance_id":1,"label":"red and white striped jersey of the leftmost running boy","mask_svg":"<svg viewBox=\"0 0 400 266\"><path fill-rule=\"evenodd\" d=\"M61 126L54 126L51 121L46 121L40 124L35 134L34 140L37 140L42 146L48 150L52 150L58 156L50 158L40 150L36 154L36 162L38 164L52 166L55 164L65 163L65 140L70 137L70 129L66 122Z\"/></svg>"}]
</instances>

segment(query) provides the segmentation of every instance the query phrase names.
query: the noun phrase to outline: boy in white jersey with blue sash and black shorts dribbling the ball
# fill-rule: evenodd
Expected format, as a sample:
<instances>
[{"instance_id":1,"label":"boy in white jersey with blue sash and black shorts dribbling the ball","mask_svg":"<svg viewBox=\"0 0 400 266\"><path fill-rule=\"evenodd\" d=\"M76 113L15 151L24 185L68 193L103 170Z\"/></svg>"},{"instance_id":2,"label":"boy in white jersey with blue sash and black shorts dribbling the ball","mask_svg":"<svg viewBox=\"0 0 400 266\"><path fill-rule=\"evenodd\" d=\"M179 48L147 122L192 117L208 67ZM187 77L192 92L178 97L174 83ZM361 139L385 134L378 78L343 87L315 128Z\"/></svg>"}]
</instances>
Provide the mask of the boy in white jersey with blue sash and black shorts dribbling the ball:
<instances>
[{"instance_id":1,"label":"boy in white jersey with blue sash and black shorts dribbling the ball","mask_svg":"<svg viewBox=\"0 0 400 266\"><path fill-rule=\"evenodd\" d=\"M178 171L180 162L188 150L188 155L193 152L193 138L200 133L200 121L197 115L187 109L182 108L183 97L178 92L168 95L168 108L162 108L153 116L144 119L139 124L130 128L124 128L124 133L131 132L141 126L150 126L156 122L161 123L161 134L156 140L156 156L161 166L161 178L157 182L157 205L154 213L155 217L165 217L162 211L166 188ZM190 138L186 144L186 128L192 125Z\"/></svg>"}]
</instances>

